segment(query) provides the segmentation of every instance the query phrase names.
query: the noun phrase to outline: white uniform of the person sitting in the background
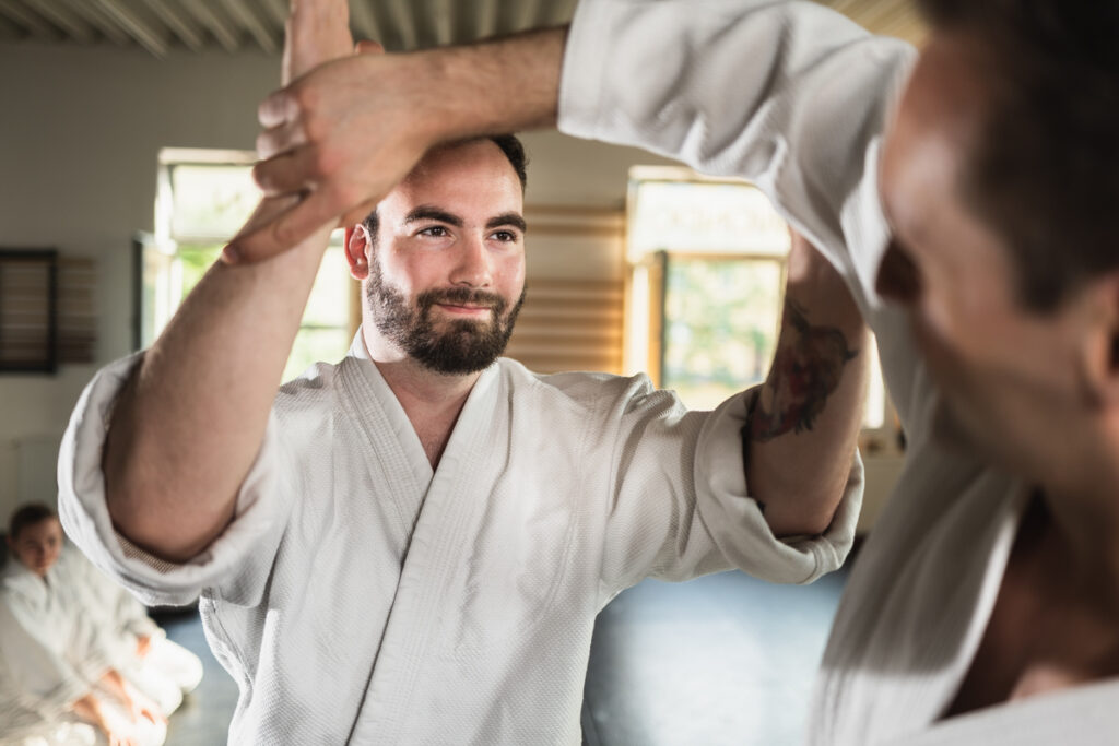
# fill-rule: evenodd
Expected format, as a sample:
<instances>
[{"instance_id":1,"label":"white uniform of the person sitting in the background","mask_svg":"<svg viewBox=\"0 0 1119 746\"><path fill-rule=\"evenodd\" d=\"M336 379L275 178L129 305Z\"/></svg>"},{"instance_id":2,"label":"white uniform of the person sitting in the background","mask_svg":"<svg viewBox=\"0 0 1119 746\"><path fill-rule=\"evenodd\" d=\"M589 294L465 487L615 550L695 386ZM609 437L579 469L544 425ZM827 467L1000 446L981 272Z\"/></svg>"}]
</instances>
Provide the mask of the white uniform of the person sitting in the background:
<instances>
[{"instance_id":1,"label":"white uniform of the person sitting in the background","mask_svg":"<svg viewBox=\"0 0 1119 746\"><path fill-rule=\"evenodd\" d=\"M97 686L124 663L119 652L57 564L43 578L10 560L0 585L0 744L105 743L73 712L74 702L88 693L141 746L162 744L166 724L129 725L123 706Z\"/></svg>"}]
</instances>

